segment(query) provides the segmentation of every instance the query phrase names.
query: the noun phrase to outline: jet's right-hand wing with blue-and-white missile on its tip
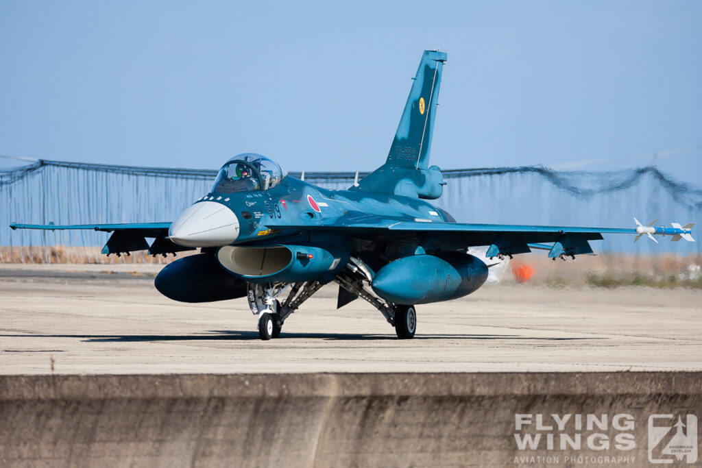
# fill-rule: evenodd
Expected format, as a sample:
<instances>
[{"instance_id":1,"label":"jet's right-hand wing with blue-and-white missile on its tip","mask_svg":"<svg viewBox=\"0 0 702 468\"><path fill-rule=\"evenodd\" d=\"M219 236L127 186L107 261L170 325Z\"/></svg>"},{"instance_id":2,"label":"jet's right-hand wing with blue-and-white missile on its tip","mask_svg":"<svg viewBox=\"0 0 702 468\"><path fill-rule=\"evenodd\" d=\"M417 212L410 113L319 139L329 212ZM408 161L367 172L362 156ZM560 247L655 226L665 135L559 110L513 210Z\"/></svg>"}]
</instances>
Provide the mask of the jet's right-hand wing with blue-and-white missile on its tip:
<instances>
[{"instance_id":1,"label":"jet's right-hand wing with blue-and-white missile on its tip","mask_svg":"<svg viewBox=\"0 0 702 468\"><path fill-rule=\"evenodd\" d=\"M282 227L282 226L280 226ZM287 226L289 227L289 226ZM685 228L691 227L686 225ZM274 227L275 228L275 227ZM369 216L356 220L338 220L333 225L300 225L301 230L337 232L359 239L417 241L427 250L458 250L472 246L489 246L486 256L527 253L531 248L549 250L550 258L592 253L588 241L602 239L602 234L661 234L683 236L689 229L677 227L572 227L532 225L489 225L453 222L403 221ZM652 237L652 236L651 236ZM689 237L691 239L691 237ZM545 243L551 243L547 245Z\"/></svg>"}]
</instances>

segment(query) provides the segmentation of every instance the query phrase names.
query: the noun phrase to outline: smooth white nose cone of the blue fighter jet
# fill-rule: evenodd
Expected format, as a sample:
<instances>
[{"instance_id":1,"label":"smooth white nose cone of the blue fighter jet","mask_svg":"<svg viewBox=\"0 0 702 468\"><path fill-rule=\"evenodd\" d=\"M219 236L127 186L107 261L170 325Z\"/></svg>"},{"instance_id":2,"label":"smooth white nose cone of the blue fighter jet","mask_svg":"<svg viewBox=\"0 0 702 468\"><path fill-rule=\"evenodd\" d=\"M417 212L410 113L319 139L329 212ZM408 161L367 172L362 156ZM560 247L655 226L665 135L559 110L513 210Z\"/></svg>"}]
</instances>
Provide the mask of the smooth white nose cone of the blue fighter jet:
<instances>
[{"instance_id":1,"label":"smooth white nose cone of the blue fighter jet","mask_svg":"<svg viewBox=\"0 0 702 468\"><path fill-rule=\"evenodd\" d=\"M168 236L179 246L226 246L237 240L239 220L222 203L201 201L187 208L173 221Z\"/></svg>"}]
</instances>

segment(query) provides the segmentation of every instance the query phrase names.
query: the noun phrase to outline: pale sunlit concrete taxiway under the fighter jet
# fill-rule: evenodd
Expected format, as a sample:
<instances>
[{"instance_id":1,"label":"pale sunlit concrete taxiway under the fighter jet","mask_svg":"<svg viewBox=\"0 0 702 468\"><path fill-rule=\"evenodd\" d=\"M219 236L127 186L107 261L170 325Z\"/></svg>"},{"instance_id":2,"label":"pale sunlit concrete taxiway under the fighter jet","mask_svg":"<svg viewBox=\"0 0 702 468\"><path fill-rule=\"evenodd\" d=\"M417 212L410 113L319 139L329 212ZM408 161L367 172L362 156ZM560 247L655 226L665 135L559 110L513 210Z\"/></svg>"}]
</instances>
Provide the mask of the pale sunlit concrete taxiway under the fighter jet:
<instances>
[{"instance_id":1,"label":"pale sunlit concrete taxiway under the fighter jet","mask_svg":"<svg viewBox=\"0 0 702 468\"><path fill-rule=\"evenodd\" d=\"M181 304L159 265L0 265L0 374L702 370L702 291L485 286L414 340L327 286L258 339L246 300Z\"/></svg>"}]
</instances>

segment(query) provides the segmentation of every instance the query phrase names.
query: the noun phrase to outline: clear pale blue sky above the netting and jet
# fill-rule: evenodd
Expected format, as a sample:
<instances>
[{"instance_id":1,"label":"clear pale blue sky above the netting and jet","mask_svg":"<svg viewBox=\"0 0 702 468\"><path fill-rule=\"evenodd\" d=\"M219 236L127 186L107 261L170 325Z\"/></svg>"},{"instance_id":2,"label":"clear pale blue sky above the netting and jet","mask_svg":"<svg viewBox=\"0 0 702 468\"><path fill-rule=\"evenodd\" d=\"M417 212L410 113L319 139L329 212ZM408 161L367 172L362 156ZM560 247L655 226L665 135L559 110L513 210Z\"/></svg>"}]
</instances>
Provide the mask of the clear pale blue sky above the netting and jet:
<instances>
[{"instance_id":1,"label":"clear pale blue sky above the netting and jet","mask_svg":"<svg viewBox=\"0 0 702 468\"><path fill-rule=\"evenodd\" d=\"M3 0L0 154L371 170L439 47L432 163L642 166L702 145L701 20L699 1ZM701 149L658 163L702 182Z\"/></svg>"}]
</instances>

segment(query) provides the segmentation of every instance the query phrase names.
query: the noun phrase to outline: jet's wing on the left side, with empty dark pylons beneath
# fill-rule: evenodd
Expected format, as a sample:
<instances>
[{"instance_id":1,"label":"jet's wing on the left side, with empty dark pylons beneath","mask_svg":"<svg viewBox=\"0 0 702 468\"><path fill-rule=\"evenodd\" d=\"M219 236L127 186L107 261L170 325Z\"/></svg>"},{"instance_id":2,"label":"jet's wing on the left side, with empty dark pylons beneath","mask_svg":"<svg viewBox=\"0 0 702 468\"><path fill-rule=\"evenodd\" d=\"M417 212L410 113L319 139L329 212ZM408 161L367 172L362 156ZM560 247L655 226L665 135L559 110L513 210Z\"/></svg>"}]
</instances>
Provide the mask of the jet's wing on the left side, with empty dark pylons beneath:
<instances>
[{"instance_id":1,"label":"jet's wing on the left side, with empty dark pylons beneath","mask_svg":"<svg viewBox=\"0 0 702 468\"><path fill-rule=\"evenodd\" d=\"M170 222L128 222L117 224L94 224L94 225L22 225L13 222L10 227L12 229L42 229L42 230L67 230L67 229L90 229L93 231L112 232L110 239L107 239L105 247L102 248L102 253L110 255L110 253L122 253L129 255L135 250L148 250L151 255L166 255L167 253L176 253L182 250L194 250L189 247L178 246L166 239L168 236L168 228L171 227ZM147 237L153 237L155 240L151 246L147 243Z\"/></svg>"}]
</instances>

